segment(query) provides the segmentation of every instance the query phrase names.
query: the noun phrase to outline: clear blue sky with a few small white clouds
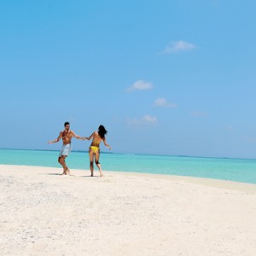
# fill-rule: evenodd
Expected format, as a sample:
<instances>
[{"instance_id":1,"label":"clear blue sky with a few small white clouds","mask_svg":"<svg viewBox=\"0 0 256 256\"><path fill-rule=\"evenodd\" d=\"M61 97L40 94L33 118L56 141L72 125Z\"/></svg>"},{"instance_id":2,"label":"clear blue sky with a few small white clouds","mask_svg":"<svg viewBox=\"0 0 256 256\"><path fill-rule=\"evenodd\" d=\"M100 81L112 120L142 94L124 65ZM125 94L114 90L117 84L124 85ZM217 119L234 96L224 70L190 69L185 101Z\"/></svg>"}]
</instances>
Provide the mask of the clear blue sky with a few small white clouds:
<instances>
[{"instance_id":1,"label":"clear blue sky with a few small white clouds","mask_svg":"<svg viewBox=\"0 0 256 256\"><path fill-rule=\"evenodd\" d=\"M256 3L2 1L0 148L65 121L116 153L256 156ZM88 142L74 141L74 149Z\"/></svg>"}]
</instances>

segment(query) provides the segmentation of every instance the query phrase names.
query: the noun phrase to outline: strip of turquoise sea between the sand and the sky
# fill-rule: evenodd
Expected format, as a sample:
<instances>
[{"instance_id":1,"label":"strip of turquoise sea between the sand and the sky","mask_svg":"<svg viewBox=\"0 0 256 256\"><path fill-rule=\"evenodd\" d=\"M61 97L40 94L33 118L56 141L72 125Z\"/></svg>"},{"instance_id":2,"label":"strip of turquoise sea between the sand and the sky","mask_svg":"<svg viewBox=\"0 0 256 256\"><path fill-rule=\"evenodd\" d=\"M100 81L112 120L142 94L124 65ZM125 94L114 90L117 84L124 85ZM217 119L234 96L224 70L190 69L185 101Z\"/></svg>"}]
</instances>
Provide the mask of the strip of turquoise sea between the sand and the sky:
<instances>
[{"instance_id":1,"label":"strip of turquoise sea between the sand and the sky","mask_svg":"<svg viewBox=\"0 0 256 256\"><path fill-rule=\"evenodd\" d=\"M0 149L0 164L61 167L57 163L58 154L58 151ZM256 183L256 160L102 153L100 161L103 171L210 177ZM88 153L73 151L67 158L67 165L70 169L89 170Z\"/></svg>"}]
</instances>

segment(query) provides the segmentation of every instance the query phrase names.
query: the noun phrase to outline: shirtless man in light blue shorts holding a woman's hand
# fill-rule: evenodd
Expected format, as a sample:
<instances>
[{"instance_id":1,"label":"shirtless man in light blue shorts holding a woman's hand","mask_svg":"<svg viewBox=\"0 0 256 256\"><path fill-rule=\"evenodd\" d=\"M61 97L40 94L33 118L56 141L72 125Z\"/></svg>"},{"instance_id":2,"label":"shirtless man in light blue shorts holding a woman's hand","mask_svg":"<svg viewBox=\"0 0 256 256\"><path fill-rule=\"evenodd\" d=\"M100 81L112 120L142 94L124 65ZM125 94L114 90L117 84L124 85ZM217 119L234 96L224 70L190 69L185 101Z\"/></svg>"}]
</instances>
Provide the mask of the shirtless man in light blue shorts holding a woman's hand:
<instances>
[{"instance_id":1,"label":"shirtless man in light blue shorts holding a woman's hand","mask_svg":"<svg viewBox=\"0 0 256 256\"><path fill-rule=\"evenodd\" d=\"M62 139L63 145L62 145L62 148L60 151L58 162L63 167L62 175L67 175L67 174L70 174L70 171L66 165L65 159L71 151L71 140L73 137L80 139L80 140L84 140L85 137L79 137L73 131L71 131L70 124L68 122L66 122L64 124L64 127L65 127L65 130L60 132L59 137L57 137L54 141L49 141L48 144L58 143Z\"/></svg>"}]
</instances>

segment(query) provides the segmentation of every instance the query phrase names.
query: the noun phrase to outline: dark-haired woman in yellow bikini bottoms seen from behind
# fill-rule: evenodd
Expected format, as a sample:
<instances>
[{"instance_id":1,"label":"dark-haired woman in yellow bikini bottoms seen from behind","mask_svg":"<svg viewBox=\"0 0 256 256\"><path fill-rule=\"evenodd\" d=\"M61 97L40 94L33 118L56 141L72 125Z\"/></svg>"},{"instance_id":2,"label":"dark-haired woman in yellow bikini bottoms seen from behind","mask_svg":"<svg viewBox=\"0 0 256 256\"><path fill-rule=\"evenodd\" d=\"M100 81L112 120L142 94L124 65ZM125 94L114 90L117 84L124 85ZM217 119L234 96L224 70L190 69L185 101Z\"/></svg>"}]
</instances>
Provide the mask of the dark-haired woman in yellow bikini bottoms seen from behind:
<instances>
[{"instance_id":1,"label":"dark-haired woman in yellow bikini bottoms seen from behind","mask_svg":"<svg viewBox=\"0 0 256 256\"><path fill-rule=\"evenodd\" d=\"M107 134L107 130L105 129L105 127L103 125L99 126L98 131L95 131L89 138L87 138L89 141L92 138L92 143L90 144L90 148L89 148L89 157L90 157L90 177L93 177L93 160L95 160L96 166L99 168L100 171L100 176L102 177L102 167L101 164L99 162L100 160L100 143L104 143L104 145L106 147L109 148L109 150L111 149L111 147L108 145L108 143L106 142L106 134Z\"/></svg>"}]
</instances>

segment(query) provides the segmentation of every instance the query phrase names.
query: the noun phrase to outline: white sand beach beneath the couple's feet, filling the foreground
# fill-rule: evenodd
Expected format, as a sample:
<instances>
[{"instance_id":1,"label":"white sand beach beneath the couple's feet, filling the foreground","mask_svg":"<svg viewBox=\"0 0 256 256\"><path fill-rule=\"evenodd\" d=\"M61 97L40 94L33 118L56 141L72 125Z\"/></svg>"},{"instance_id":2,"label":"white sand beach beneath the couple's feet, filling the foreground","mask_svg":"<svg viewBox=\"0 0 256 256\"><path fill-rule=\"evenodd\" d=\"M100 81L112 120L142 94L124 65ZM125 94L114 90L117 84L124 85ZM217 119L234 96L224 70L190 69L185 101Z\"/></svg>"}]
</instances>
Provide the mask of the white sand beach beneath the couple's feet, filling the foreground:
<instances>
[{"instance_id":1,"label":"white sand beach beneath the couple's feet, filling the foreground","mask_svg":"<svg viewBox=\"0 0 256 256\"><path fill-rule=\"evenodd\" d=\"M60 173L0 166L1 255L256 255L256 185Z\"/></svg>"}]
</instances>

